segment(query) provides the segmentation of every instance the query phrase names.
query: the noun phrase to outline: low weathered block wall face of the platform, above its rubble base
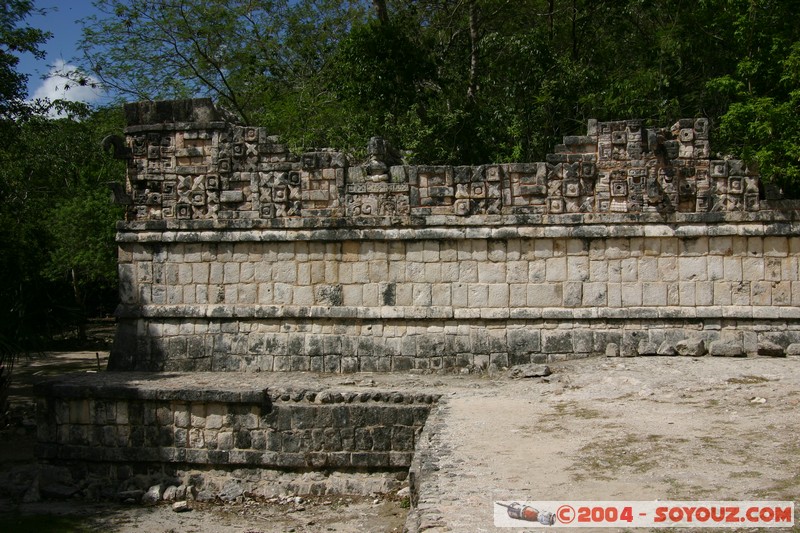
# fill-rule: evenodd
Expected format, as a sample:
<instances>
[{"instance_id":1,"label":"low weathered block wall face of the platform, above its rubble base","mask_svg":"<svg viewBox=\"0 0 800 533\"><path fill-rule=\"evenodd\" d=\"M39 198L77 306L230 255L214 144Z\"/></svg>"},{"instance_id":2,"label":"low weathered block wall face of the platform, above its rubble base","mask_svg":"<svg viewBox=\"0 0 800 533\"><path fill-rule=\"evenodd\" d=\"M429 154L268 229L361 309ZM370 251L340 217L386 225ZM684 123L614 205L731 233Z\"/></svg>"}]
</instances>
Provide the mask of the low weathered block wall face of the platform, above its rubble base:
<instances>
[{"instance_id":1,"label":"low weathered block wall face of the platform, above its rubble base","mask_svg":"<svg viewBox=\"0 0 800 533\"><path fill-rule=\"evenodd\" d=\"M394 391L226 387L197 376L169 385L72 376L38 387L40 460L403 470L438 400Z\"/></svg>"}]
</instances>

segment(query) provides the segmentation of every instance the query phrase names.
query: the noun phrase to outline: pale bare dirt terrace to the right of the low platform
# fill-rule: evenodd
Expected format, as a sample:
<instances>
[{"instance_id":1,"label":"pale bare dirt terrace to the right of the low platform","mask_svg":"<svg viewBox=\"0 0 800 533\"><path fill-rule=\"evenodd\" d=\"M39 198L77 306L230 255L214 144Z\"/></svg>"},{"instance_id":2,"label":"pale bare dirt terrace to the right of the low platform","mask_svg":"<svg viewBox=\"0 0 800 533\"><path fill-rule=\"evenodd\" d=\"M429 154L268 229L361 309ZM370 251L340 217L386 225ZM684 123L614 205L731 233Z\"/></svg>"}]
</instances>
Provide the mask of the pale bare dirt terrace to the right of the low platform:
<instances>
[{"instance_id":1,"label":"pale bare dirt terrace to the right of the low platform","mask_svg":"<svg viewBox=\"0 0 800 533\"><path fill-rule=\"evenodd\" d=\"M551 367L550 383L492 380L448 399L423 494L434 523L495 531L494 501L800 501L800 358Z\"/></svg>"}]
</instances>

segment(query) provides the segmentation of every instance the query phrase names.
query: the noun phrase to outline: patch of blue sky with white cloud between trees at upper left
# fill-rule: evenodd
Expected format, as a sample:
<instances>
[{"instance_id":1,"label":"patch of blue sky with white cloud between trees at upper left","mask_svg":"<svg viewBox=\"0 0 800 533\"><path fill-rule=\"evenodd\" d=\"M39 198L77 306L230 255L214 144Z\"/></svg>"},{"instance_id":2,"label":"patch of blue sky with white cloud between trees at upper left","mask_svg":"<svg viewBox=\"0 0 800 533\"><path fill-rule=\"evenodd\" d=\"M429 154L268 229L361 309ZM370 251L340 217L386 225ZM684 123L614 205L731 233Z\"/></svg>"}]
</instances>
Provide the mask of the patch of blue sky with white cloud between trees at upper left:
<instances>
[{"instance_id":1,"label":"patch of blue sky with white cloud between trees at upper left","mask_svg":"<svg viewBox=\"0 0 800 533\"><path fill-rule=\"evenodd\" d=\"M101 103L104 94L88 87L74 87L64 91L64 80L47 78L53 69L69 70L78 54L77 42L81 37L78 20L97 10L91 0L35 0L36 8L46 10L44 15L34 14L25 24L49 31L53 36L42 46L46 58L37 60L30 54L20 57L19 72L28 75L28 97L66 98L88 103Z\"/></svg>"}]
</instances>

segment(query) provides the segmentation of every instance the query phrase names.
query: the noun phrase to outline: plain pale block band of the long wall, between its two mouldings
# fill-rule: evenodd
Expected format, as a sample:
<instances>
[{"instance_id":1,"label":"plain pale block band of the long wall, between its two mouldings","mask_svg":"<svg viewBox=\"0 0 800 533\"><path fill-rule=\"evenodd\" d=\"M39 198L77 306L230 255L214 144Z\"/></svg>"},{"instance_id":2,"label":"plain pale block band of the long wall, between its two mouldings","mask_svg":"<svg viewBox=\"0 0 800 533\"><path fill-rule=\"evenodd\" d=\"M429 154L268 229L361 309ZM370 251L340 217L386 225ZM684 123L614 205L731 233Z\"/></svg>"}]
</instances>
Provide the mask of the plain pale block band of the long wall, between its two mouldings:
<instances>
[{"instance_id":1,"label":"plain pale block band of the long wall, between its two mouldings","mask_svg":"<svg viewBox=\"0 0 800 533\"><path fill-rule=\"evenodd\" d=\"M800 239L124 244L123 305L456 309L800 304ZM187 311L191 316L192 311ZM203 316L204 311L199 312Z\"/></svg>"}]
</instances>

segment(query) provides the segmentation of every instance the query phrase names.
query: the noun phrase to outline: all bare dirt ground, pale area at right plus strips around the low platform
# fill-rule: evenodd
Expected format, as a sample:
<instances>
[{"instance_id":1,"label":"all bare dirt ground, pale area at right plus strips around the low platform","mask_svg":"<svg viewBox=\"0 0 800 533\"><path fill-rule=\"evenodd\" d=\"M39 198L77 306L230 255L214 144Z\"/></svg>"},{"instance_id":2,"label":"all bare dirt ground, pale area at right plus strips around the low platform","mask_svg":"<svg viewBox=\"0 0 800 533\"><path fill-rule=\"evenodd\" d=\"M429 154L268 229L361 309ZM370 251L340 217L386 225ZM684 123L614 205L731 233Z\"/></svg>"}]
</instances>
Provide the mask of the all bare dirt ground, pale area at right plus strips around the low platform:
<instances>
[{"instance_id":1,"label":"all bare dirt ground, pale area at right plus strips around the low platform","mask_svg":"<svg viewBox=\"0 0 800 533\"><path fill-rule=\"evenodd\" d=\"M800 501L800 358L597 357L550 366L547 381L401 379L445 394L439 471L422 491L442 531L493 531L497 500ZM31 401L30 382L65 368L97 371L97 357L53 353L23 364L15 405ZM17 423L0 432L0 471L33 460L35 428L17 409ZM180 514L167 504L5 498L0 531L390 532L402 531L406 513L393 495L195 503Z\"/></svg>"}]
</instances>

